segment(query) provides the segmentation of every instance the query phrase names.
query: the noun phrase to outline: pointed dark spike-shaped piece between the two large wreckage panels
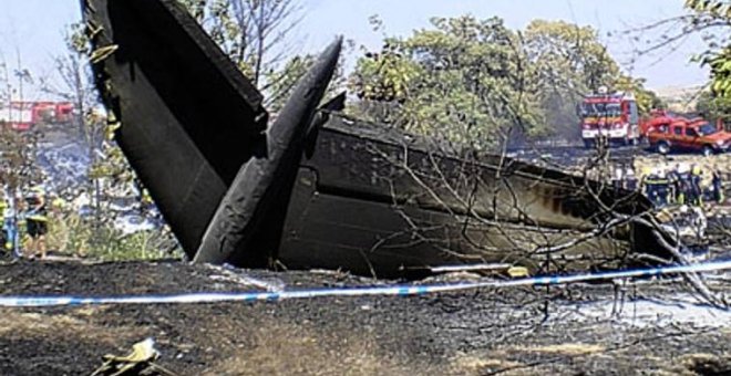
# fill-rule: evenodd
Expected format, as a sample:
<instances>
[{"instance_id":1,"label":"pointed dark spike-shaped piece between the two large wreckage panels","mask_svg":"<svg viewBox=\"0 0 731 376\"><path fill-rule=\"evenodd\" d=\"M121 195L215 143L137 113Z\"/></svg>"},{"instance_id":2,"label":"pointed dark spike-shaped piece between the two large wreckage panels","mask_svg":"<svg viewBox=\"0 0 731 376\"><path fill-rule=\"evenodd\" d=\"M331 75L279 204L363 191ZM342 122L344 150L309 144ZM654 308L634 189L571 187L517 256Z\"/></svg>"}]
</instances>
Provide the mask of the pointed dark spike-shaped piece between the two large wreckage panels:
<instances>
[{"instance_id":1,"label":"pointed dark spike-shaped piece between the two large wreckage panels","mask_svg":"<svg viewBox=\"0 0 731 376\"><path fill-rule=\"evenodd\" d=\"M253 253L251 244L278 247L276 240L281 237L281 226L276 223L281 223L284 218L270 221L262 217L286 210L286 205L277 203L288 201L305 136L332 79L341 44L341 39L333 42L300 80L277 121L267 129L266 155L255 156L241 167L218 206L194 262L223 263L231 254L241 258ZM262 233L266 239L253 241ZM257 259L256 253L246 259Z\"/></svg>"}]
</instances>

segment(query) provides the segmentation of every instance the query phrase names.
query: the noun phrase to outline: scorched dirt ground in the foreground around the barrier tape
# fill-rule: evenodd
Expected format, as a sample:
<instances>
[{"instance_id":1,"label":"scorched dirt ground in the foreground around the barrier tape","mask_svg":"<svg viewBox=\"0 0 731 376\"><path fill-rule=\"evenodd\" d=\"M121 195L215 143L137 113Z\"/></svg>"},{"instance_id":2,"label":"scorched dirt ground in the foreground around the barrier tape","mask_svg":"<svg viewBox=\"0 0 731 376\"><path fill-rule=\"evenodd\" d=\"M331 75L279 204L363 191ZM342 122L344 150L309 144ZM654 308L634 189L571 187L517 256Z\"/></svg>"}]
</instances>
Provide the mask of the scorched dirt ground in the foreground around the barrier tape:
<instances>
[{"instance_id":1,"label":"scorched dirt ground in the foreground around the barrier tape","mask_svg":"<svg viewBox=\"0 0 731 376\"><path fill-rule=\"evenodd\" d=\"M251 278L290 290L385 283L172 261L21 261L0 270L3 295L260 291ZM709 283L731 291L723 275ZM617 292L625 294L621 312L594 309L614 306ZM413 297L0 309L0 374L87 375L103 354L124 355L146 337L162 353L158 363L179 375L731 374L729 312L692 297L683 305L679 296L691 296L679 282L638 281ZM662 309L638 320L639 302ZM681 306L688 315L678 314Z\"/></svg>"}]
</instances>

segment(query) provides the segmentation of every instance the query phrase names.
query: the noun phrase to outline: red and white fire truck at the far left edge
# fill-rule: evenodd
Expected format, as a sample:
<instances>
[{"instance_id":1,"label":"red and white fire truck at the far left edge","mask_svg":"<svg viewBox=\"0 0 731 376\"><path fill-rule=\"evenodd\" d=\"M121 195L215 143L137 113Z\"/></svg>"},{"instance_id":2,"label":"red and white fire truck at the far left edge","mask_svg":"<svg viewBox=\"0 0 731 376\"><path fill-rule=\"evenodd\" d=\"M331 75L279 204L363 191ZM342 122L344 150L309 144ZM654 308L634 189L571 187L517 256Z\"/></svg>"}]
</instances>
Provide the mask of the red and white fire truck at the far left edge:
<instances>
[{"instance_id":1,"label":"red and white fire truck at the far left edge","mask_svg":"<svg viewBox=\"0 0 731 376\"><path fill-rule=\"evenodd\" d=\"M0 124L16 130L28 130L40 123L70 123L73 109L73 104L69 102L0 103Z\"/></svg>"}]
</instances>

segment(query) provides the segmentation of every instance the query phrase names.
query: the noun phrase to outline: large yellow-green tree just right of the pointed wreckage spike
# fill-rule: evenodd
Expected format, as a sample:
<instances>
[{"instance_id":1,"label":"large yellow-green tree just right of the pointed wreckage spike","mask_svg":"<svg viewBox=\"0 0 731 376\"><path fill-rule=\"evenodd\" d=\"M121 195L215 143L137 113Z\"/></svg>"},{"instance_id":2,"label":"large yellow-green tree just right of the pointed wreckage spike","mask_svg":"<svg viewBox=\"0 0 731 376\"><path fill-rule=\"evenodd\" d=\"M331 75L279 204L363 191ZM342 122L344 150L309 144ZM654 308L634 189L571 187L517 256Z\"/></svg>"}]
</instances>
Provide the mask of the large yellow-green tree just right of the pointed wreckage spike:
<instances>
[{"instance_id":1,"label":"large yellow-green tree just right of the pointed wreckage spike","mask_svg":"<svg viewBox=\"0 0 731 376\"><path fill-rule=\"evenodd\" d=\"M434 18L432 29L387 38L357 62L360 113L410 132L484 148L518 126L542 132L533 67L519 33L497 18Z\"/></svg>"}]
</instances>

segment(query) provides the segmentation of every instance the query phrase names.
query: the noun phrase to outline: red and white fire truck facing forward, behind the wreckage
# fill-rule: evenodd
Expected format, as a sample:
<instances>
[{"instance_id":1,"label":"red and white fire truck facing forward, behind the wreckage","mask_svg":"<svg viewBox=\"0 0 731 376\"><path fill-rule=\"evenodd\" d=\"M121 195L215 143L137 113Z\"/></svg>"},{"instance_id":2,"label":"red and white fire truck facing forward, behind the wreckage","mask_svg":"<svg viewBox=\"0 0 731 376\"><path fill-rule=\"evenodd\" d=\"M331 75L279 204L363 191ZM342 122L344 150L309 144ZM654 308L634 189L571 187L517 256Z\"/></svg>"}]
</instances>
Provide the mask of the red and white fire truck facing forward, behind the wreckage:
<instances>
[{"instance_id":1,"label":"red and white fire truck facing forward, behind the wreckage","mask_svg":"<svg viewBox=\"0 0 731 376\"><path fill-rule=\"evenodd\" d=\"M593 94L578 106L581 138L586 147L599 139L637 145L641 134L637 102L630 93Z\"/></svg>"}]
</instances>

